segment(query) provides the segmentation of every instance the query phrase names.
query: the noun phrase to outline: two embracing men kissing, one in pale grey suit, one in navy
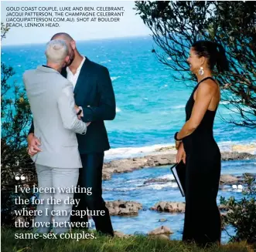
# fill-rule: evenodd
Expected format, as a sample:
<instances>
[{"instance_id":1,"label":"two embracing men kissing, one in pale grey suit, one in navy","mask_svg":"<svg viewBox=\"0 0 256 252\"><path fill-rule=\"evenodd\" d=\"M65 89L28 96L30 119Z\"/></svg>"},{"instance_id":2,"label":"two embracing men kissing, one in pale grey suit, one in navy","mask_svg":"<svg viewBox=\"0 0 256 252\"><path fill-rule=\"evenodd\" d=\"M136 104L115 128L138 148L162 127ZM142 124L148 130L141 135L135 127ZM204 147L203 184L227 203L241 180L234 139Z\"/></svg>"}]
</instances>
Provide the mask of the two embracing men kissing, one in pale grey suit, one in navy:
<instances>
[{"instance_id":1,"label":"two embracing men kissing, one in pale grey suit, one in navy","mask_svg":"<svg viewBox=\"0 0 256 252\"><path fill-rule=\"evenodd\" d=\"M88 222L87 214L71 215L72 207L76 212L101 211L104 214L92 216L96 230L113 237L102 198L104 151L110 149L104 120L113 120L116 113L108 69L81 55L76 42L64 32L53 35L45 55L46 65L23 74L33 117L28 153L36 165L39 188L56 189L39 194L43 203L37 210L43 214L35 221L51 223L53 218L57 223L53 232L63 234L70 230L70 222ZM74 186L90 189L91 193L58 190ZM50 198L62 203L49 204ZM77 204L64 204L67 199L77 200ZM59 211L67 214L48 214ZM34 231L46 234L50 229L42 224Z\"/></svg>"}]
</instances>

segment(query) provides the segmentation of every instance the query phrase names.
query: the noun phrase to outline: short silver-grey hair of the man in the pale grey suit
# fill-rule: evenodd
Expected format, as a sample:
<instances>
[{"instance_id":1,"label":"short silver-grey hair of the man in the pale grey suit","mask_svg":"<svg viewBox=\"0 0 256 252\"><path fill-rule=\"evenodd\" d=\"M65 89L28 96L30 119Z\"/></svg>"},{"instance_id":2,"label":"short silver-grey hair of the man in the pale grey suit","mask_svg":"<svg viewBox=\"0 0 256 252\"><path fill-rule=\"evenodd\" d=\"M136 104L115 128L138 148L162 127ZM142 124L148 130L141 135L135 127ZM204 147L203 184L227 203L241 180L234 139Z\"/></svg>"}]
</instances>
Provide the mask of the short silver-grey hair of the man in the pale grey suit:
<instances>
[{"instance_id":1,"label":"short silver-grey hair of the man in the pale grey suit","mask_svg":"<svg viewBox=\"0 0 256 252\"><path fill-rule=\"evenodd\" d=\"M62 39L53 39L46 45L46 58L49 62L61 64L68 52L67 44Z\"/></svg>"}]
</instances>

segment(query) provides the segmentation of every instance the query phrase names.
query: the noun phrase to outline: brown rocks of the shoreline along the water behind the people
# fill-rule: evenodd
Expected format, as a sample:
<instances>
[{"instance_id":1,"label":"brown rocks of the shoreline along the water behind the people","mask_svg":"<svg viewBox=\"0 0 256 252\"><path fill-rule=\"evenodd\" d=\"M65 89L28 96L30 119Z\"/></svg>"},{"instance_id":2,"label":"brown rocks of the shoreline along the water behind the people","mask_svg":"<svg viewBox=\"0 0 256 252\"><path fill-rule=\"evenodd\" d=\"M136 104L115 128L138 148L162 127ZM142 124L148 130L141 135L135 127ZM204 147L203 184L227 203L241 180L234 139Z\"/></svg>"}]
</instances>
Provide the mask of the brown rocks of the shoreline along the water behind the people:
<instances>
[{"instance_id":1,"label":"brown rocks of the shoreline along the water behind the people","mask_svg":"<svg viewBox=\"0 0 256 252\"><path fill-rule=\"evenodd\" d=\"M256 155L251 153L239 153L239 152L222 152L222 160L253 160L256 159ZM113 173L129 173L134 170L140 170L145 167L155 166L167 166L176 163L176 150L173 148L161 148L155 153L150 153L147 156L133 157L122 160L112 160L111 162L104 163L103 169L103 180L111 180ZM246 173L247 175L254 176L256 173ZM148 186L154 183L165 184L169 182L175 182L171 178L148 178L145 180L142 186ZM221 174L219 190L230 190L233 185L243 185L244 176L234 176L231 174ZM184 199L185 200L185 199ZM144 208L142 203L136 201L125 201L125 200L113 200L106 201L106 207L108 207L111 216L118 217L135 217L140 214L141 211L150 210L164 213L185 213L185 202L176 201L159 201L152 205L152 207ZM223 205L218 206L221 215L227 214L227 207ZM148 231L148 236L157 236L162 239L170 239L170 235L173 231L166 226L162 226L162 223L167 223L167 219L160 219L159 215L159 226L154 230ZM169 224L167 223L167 226ZM132 234L123 234L120 231L115 231L114 235L117 237L131 237Z\"/></svg>"}]
</instances>

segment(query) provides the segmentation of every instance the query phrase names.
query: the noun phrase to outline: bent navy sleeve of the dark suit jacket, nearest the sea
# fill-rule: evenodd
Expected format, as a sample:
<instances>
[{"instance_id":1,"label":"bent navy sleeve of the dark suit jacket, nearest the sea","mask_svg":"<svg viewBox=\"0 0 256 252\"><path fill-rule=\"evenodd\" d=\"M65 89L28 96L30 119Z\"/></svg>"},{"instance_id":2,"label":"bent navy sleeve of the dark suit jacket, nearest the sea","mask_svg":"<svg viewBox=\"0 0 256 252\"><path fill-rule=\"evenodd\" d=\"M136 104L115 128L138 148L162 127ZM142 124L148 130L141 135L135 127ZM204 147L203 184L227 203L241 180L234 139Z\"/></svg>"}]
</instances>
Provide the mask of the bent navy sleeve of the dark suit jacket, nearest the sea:
<instances>
[{"instance_id":1,"label":"bent navy sleeve of the dark suit jacket, nearest the sea","mask_svg":"<svg viewBox=\"0 0 256 252\"><path fill-rule=\"evenodd\" d=\"M98 90L100 102L98 106L83 107L83 121L94 122L113 120L115 117L115 97L108 69L104 68L98 78Z\"/></svg>"}]
</instances>

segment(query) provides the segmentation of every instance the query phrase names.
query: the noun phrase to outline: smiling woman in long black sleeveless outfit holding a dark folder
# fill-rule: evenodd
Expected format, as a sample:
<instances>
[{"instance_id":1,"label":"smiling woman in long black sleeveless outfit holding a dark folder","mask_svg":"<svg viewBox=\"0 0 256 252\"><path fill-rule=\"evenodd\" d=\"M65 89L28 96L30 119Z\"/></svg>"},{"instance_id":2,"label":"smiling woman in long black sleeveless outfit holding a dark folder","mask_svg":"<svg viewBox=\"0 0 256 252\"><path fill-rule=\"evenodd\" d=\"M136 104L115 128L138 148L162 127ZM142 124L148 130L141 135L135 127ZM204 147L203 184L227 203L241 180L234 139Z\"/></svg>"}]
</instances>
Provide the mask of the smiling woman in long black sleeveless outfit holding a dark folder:
<instances>
[{"instance_id":1,"label":"smiling woman in long black sleeveless outfit holding a dark folder","mask_svg":"<svg viewBox=\"0 0 256 252\"><path fill-rule=\"evenodd\" d=\"M213 69L228 71L223 46L195 42L189 52L190 71L198 84L186 103L186 123L175 134L177 162L186 163L186 210L184 241L205 246L220 243L221 222L217 207L220 150L213 138L213 121L220 102L220 87Z\"/></svg>"}]
</instances>

